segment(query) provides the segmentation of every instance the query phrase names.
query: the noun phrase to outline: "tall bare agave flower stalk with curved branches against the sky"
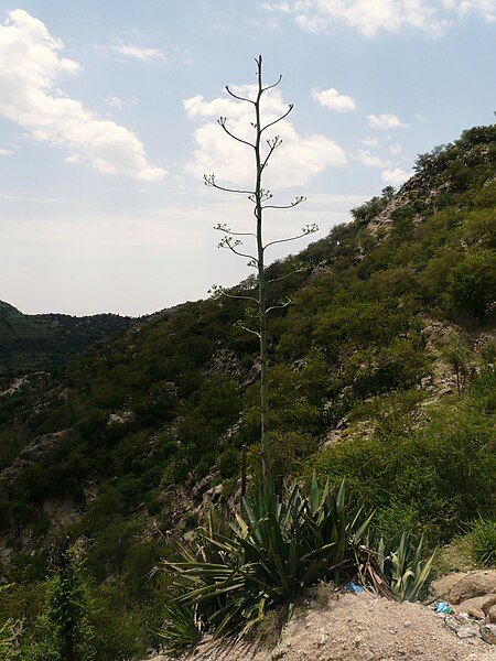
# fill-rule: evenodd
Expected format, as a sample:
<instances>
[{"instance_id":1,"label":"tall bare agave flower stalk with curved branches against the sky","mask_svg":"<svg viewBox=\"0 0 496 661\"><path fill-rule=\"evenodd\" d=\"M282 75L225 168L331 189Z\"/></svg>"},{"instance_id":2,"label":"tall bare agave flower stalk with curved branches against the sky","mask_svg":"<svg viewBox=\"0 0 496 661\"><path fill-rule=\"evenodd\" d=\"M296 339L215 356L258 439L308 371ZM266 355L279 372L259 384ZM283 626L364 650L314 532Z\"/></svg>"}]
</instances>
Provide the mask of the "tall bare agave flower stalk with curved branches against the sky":
<instances>
[{"instance_id":1,"label":"tall bare agave flower stalk with curved branches against the sky","mask_svg":"<svg viewBox=\"0 0 496 661\"><path fill-rule=\"evenodd\" d=\"M276 305L268 305L268 288L272 282L276 282L276 280L279 281L284 278L288 278L293 272L295 272L296 270L300 270L300 269L298 269L295 267L294 269L290 270L290 272L282 275L281 278L277 278L273 280L268 279L267 272L266 272L266 263L267 263L266 251L270 246L273 246L276 243L293 241L301 237L313 234L314 231L317 230L317 227L316 227L316 225L308 225L308 226L303 227L301 232L296 236L292 236L292 237L288 237L288 238L283 238L283 239L279 239L279 240L274 240L274 241L269 241L268 243L266 243L263 240L265 210L266 209L293 208L293 207L298 206L299 204L301 204L305 198L303 196L298 196L298 197L295 197L295 199L293 202L291 202L289 204L283 204L283 205L271 204L270 201L272 199L272 193L269 189L263 187L263 176L265 176L266 169L269 164L269 161L270 161L272 154L274 153L274 151L282 144L282 139L280 136L273 136L271 138L268 138L263 144L265 132L268 129L271 129L272 127L274 127L277 123L279 123L283 119L285 119L292 111L293 105L290 104L288 107L288 110L283 115L278 117L276 120L269 121L265 126L262 124L261 116L262 116L263 95L268 90L277 87L280 84L282 76L279 76L278 80L274 84L268 85L267 87L265 87L263 80L262 80L262 57L261 57L261 55L256 58L256 63L257 63L257 96L255 99L241 97L241 96L235 94L231 89L229 89L229 86L226 86L226 90L231 97L234 97L235 99L237 99L241 102L251 104L254 106L255 121L251 122L251 127L254 128L254 133L255 133L254 142L250 142L249 140L244 140L244 139L239 138L238 136L235 136L227 128L227 118L226 117L220 117L217 120L220 128L227 133L227 136L229 136L229 138L231 138L233 140L236 140L237 142L241 142L247 148L252 150L252 153L255 156L254 187L252 187L252 189L239 189L239 188L230 188L230 187L222 186L222 185L217 184L214 174L204 175L204 180L205 180L205 184L207 186L217 188L218 191L225 191L228 193L237 193L237 194L241 194L241 195L247 195L248 199L254 205L254 215L255 215L255 225L256 225L254 232L233 231L225 224L218 224L215 227L215 229L217 229L224 234L224 237L219 242L219 248L226 248L239 257L247 258L249 260L248 266L254 267L257 270L257 292L255 295L237 295L237 294L234 294L233 292L227 292L223 288L218 288L216 285L213 288L213 291L216 294L223 294L223 295L226 295L231 299L240 299L240 300L246 301L247 303L252 303L256 305L256 310L257 310L256 316L258 317L258 327L250 328L245 324L239 324L239 325L242 328L245 328L245 330L256 335L259 338L259 343L260 343L261 452L262 452L262 473L265 476L267 476L267 469L268 469L267 455L268 455L268 434L269 434L267 319L268 319L268 314L272 310L282 308L290 304L290 301L285 301L285 302L281 301ZM248 254L248 253L241 252L239 250L239 247L242 245L242 240L239 237L252 237L252 239L255 239L256 254Z\"/></svg>"}]
</instances>

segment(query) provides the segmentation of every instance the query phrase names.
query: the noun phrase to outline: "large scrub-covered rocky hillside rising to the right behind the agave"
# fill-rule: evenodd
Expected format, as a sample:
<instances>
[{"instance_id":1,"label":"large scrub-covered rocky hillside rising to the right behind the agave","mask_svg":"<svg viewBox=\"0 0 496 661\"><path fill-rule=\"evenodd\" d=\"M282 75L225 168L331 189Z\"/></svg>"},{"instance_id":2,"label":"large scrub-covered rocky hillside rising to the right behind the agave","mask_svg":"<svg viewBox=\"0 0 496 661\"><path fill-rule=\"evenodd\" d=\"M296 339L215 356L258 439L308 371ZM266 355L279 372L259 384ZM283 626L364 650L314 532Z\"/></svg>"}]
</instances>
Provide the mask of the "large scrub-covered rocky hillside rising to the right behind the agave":
<instances>
[{"instance_id":1,"label":"large scrub-covered rocky hillside rising to the right behind the agave","mask_svg":"<svg viewBox=\"0 0 496 661\"><path fill-rule=\"evenodd\" d=\"M495 138L477 127L419 156L400 191L270 268L273 302L292 299L270 326L274 476L345 476L378 532L431 548L495 511ZM184 304L0 398L3 615L33 617L51 545L84 537L101 659L143 653L166 593L150 570L205 507L236 500L245 444L258 466L244 315Z\"/></svg>"}]
</instances>

